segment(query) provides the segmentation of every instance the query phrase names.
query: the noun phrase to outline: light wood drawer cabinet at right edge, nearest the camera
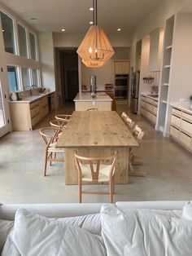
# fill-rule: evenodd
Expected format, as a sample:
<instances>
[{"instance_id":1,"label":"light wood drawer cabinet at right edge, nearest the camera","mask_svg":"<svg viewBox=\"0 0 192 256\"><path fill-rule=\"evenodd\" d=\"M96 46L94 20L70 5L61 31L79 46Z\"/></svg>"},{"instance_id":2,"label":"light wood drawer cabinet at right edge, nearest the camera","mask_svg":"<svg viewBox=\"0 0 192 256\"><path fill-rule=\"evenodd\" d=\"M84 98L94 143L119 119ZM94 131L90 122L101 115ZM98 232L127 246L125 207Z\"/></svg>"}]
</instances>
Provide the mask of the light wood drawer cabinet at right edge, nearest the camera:
<instances>
[{"instance_id":1,"label":"light wood drawer cabinet at right edge, nearest the camera","mask_svg":"<svg viewBox=\"0 0 192 256\"><path fill-rule=\"evenodd\" d=\"M192 152L192 113L172 108L170 136Z\"/></svg>"}]
</instances>

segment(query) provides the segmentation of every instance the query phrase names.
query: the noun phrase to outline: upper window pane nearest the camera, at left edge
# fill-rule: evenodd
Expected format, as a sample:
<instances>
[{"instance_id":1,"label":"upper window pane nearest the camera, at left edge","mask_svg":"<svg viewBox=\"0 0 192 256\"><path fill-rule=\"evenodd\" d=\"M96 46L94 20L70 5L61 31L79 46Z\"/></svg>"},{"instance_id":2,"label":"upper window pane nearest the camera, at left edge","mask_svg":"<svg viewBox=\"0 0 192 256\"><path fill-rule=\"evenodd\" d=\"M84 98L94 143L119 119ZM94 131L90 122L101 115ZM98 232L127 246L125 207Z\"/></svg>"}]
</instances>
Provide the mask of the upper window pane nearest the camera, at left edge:
<instances>
[{"instance_id":1,"label":"upper window pane nearest the camera, at left edge","mask_svg":"<svg viewBox=\"0 0 192 256\"><path fill-rule=\"evenodd\" d=\"M15 54L13 20L1 11L2 35L5 51Z\"/></svg>"}]
</instances>

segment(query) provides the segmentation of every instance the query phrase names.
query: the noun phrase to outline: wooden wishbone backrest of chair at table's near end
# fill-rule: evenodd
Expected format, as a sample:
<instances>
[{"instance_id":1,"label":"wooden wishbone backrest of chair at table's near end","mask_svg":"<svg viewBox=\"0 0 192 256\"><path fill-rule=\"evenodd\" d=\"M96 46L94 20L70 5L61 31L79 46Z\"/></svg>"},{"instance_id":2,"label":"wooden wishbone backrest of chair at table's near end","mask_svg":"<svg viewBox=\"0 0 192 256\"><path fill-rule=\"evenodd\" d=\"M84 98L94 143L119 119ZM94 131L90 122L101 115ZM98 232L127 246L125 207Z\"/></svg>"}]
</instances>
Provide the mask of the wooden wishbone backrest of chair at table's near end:
<instances>
[{"instance_id":1,"label":"wooden wishbone backrest of chair at table's near end","mask_svg":"<svg viewBox=\"0 0 192 256\"><path fill-rule=\"evenodd\" d=\"M79 178L82 176L82 166L87 166L91 172L92 181L98 181L98 174L100 166L106 165L109 169L110 179L115 174L115 161L116 161L116 152L111 157L81 157L74 152L76 167L78 170Z\"/></svg>"}]
</instances>

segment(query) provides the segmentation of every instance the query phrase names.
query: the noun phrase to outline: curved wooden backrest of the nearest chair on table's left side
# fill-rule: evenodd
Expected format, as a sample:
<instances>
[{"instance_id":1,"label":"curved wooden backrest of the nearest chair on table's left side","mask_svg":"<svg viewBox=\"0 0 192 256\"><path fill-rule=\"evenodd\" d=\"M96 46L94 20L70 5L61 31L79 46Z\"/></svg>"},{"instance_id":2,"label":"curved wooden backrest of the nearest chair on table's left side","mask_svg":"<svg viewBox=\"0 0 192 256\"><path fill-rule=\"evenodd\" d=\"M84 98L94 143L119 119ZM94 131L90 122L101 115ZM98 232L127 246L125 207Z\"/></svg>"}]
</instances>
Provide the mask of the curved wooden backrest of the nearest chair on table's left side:
<instances>
[{"instance_id":1,"label":"curved wooden backrest of the nearest chair on table's left side","mask_svg":"<svg viewBox=\"0 0 192 256\"><path fill-rule=\"evenodd\" d=\"M58 140L59 129L52 127L44 127L39 130L42 139L46 143L46 145L50 145L50 143L54 143Z\"/></svg>"}]
</instances>

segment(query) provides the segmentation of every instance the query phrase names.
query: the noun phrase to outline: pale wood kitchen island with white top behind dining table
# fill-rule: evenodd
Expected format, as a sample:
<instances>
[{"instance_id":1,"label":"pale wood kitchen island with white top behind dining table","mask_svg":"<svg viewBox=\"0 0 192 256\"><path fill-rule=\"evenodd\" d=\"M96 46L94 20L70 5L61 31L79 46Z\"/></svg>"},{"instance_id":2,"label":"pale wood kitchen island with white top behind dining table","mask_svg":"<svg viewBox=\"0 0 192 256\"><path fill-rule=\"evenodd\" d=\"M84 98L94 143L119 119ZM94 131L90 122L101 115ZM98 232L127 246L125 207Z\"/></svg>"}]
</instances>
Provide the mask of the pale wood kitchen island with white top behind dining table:
<instances>
[{"instance_id":1,"label":"pale wood kitchen island with white top behind dining table","mask_svg":"<svg viewBox=\"0 0 192 256\"><path fill-rule=\"evenodd\" d=\"M73 99L76 111L85 111L89 108L98 108L100 110L110 111L112 99L105 92L96 93L92 98L89 92L81 92Z\"/></svg>"}]
</instances>

